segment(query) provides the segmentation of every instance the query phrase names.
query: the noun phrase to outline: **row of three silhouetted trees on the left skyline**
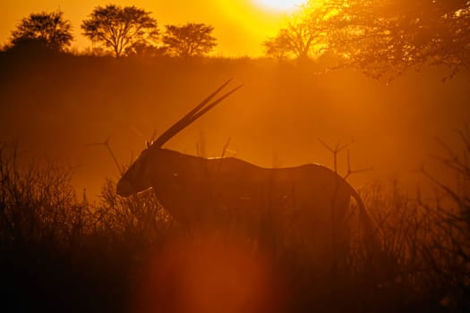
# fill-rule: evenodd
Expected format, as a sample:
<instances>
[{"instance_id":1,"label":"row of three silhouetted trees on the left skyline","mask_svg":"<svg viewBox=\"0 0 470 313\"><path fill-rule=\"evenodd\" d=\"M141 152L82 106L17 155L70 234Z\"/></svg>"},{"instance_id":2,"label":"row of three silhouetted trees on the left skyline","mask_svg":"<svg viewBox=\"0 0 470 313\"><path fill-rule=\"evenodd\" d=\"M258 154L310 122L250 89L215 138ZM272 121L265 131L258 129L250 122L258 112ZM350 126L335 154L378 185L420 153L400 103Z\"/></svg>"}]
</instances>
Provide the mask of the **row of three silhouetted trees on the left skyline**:
<instances>
[{"instance_id":1,"label":"row of three silhouetted trees on the left skyline","mask_svg":"<svg viewBox=\"0 0 470 313\"><path fill-rule=\"evenodd\" d=\"M83 35L98 47L89 48L91 55L204 56L217 46L213 26L186 22L166 25L160 34L158 23L150 12L135 6L107 4L97 6L81 21ZM3 50L47 49L69 52L73 40L71 22L64 12L30 13L12 30ZM90 53L91 50L91 53Z\"/></svg>"}]
</instances>

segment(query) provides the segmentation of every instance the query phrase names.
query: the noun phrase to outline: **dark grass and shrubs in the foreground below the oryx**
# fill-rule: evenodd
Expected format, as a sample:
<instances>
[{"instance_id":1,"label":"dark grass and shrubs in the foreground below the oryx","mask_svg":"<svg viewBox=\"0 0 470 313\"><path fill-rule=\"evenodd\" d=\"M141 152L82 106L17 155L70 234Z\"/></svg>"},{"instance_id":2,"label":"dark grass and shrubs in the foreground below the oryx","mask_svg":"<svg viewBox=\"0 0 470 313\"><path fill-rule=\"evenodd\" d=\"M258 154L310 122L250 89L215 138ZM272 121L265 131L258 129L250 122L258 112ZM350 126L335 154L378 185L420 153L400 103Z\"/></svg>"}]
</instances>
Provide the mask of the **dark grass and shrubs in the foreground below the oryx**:
<instances>
[{"instance_id":1,"label":"dark grass and shrubs in the foreground below the oryx","mask_svg":"<svg viewBox=\"0 0 470 313\"><path fill-rule=\"evenodd\" d=\"M86 195L75 197L70 171L53 163L25 165L18 149L4 145L3 306L77 312L468 311L470 165L462 157L470 138L460 134L464 154L449 150L442 159L459 183L436 182L433 201L411 199L397 182L362 190L387 258L372 258L351 222L346 250L323 272L312 266L315 251L307 243L261 239L282 238L282 230L267 227L259 236L236 228L184 230L152 192L121 199L111 181L101 200L90 203ZM191 309L181 304L187 288L194 288L190 294L201 290L204 299Z\"/></svg>"}]
</instances>

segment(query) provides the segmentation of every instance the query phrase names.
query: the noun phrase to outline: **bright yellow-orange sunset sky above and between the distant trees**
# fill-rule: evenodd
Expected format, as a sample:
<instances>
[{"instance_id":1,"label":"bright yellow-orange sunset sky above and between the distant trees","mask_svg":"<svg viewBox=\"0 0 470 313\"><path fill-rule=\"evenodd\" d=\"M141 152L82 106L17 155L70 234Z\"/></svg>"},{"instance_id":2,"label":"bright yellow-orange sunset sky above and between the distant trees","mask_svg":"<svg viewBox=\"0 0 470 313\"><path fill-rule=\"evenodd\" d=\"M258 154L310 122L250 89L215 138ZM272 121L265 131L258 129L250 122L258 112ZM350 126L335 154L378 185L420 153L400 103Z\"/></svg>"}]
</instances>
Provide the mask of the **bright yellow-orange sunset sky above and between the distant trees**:
<instances>
[{"instance_id":1,"label":"bright yellow-orange sunset sky above and between the distant trees","mask_svg":"<svg viewBox=\"0 0 470 313\"><path fill-rule=\"evenodd\" d=\"M273 36L286 23L299 0L16 0L0 2L0 44L4 44L15 25L30 13L64 11L72 21L73 47L79 50L90 47L90 41L81 35L81 21L97 5L135 5L150 11L157 19L160 30L167 24L186 21L204 22L215 27L218 47L214 55L261 55L261 43Z\"/></svg>"}]
</instances>

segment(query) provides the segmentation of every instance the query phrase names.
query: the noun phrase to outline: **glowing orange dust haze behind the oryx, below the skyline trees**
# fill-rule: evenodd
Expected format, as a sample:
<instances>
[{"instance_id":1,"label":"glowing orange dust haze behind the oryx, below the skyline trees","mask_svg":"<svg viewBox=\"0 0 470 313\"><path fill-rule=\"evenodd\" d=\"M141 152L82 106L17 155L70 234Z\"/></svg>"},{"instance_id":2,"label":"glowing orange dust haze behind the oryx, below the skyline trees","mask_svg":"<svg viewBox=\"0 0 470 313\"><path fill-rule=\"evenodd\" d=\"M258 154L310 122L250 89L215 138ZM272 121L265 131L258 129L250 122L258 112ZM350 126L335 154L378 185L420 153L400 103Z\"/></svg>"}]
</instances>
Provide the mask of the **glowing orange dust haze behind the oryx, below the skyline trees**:
<instances>
[{"instance_id":1,"label":"glowing orange dust haze behind the oryx, below the skyline trees","mask_svg":"<svg viewBox=\"0 0 470 313\"><path fill-rule=\"evenodd\" d=\"M115 60L84 56L3 57L1 139L30 157L73 168L73 185L98 195L106 177L129 165L146 140L165 131L223 81L244 84L168 143L191 155L232 155L265 167L333 166L347 145L356 187L399 177L415 188L419 169L442 154L436 137L457 142L465 126L468 75L442 82L439 69L409 72L386 84L360 72L325 73L319 61L266 59ZM93 145L95 144L95 145ZM201 149L202 148L202 149ZM347 171L346 152L338 172ZM439 172L439 169L435 167Z\"/></svg>"}]
</instances>

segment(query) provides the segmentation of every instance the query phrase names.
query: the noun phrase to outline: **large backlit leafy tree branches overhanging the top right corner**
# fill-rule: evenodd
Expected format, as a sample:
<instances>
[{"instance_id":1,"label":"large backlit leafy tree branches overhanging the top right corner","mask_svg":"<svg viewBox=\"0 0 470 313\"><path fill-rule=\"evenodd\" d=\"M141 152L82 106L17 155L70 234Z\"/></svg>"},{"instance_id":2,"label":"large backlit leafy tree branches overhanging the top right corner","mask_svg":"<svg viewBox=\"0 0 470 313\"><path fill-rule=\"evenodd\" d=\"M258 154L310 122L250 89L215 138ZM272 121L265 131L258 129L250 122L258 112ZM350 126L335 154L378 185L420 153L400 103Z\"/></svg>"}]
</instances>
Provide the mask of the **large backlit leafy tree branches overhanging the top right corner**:
<instances>
[{"instance_id":1,"label":"large backlit leafy tree branches overhanging the top right corner","mask_svg":"<svg viewBox=\"0 0 470 313\"><path fill-rule=\"evenodd\" d=\"M380 79L408 69L443 64L450 76L470 61L470 2L467 0L324 0L310 1L305 20L322 30L319 42L339 55L342 66L359 68ZM316 6L314 5L316 4ZM321 14L320 14L321 15Z\"/></svg>"}]
</instances>

